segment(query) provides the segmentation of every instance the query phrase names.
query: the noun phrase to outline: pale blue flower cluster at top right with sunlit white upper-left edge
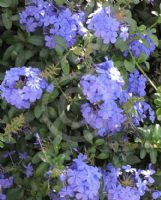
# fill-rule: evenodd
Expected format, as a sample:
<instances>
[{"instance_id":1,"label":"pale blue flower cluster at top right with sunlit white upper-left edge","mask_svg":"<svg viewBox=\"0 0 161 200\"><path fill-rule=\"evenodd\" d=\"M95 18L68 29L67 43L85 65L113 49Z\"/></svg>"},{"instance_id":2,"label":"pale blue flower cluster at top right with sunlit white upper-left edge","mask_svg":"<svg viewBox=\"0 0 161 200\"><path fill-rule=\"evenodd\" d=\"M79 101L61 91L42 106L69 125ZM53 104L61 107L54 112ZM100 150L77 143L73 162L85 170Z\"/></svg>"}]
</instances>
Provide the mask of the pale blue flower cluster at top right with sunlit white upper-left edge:
<instances>
[{"instance_id":1,"label":"pale blue flower cluster at top right with sunlit white upper-left edge","mask_svg":"<svg viewBox=\"0 0 161 200\"><path fill-rule=\"evenodd\" d=\"M94 31L94 35L102 38L105 44L115 43L118 37L126 40L129 36L128 28L112 15L110 7L97 9L89 15L87 24L88 28Z\"/></svg>"}]
</instances>

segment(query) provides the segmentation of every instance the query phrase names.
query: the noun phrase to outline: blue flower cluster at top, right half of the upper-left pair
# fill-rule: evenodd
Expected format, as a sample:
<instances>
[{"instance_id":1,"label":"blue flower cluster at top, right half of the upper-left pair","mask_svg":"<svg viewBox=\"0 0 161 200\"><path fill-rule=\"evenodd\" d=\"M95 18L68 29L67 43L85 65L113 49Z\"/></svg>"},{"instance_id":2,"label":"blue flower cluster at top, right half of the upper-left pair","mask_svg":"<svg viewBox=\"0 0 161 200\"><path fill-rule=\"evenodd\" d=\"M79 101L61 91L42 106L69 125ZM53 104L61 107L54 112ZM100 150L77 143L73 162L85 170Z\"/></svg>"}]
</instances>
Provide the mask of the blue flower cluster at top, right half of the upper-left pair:
<instances>
[{"instance_id":1,"label":"blue flower cluster at top, right half of the upper-left pair","mask_svg":"<svg viewBox=\"0 0 161 200\"><path fill-rule=\"evenodd\" d=\"M58 10L55 16L51 16L48 23L44 23L46 46L50 49L56 45L55 36L62 37L67 47L76 42L76 36L85 34L83 27L84 13L72 14L69 8Z\"/></svg>"}]
</instances>

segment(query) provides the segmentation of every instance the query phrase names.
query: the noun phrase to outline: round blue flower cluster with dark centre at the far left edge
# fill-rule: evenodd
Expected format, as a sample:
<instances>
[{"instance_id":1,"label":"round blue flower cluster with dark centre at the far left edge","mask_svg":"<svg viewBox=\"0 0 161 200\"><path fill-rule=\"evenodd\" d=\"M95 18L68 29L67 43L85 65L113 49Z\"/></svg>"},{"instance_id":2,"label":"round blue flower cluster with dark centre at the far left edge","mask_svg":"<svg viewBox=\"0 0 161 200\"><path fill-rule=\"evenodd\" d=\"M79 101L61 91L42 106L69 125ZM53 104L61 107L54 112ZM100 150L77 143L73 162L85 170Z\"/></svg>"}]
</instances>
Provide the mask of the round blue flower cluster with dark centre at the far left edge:
<instances>
[{"instance_id":1,"label":"round blue flower cluster with dark centre at the far left edge","mask_svg":"<svg viewBox=\"0 0 161 200\"><path fill-rule=\"evenodd\" d=\"M51 92L53 85L48 85L39 69L31 67L11 68L0 85L2 98L18 109L30 108L44 90Z\"/></svg>"}]
</instances>

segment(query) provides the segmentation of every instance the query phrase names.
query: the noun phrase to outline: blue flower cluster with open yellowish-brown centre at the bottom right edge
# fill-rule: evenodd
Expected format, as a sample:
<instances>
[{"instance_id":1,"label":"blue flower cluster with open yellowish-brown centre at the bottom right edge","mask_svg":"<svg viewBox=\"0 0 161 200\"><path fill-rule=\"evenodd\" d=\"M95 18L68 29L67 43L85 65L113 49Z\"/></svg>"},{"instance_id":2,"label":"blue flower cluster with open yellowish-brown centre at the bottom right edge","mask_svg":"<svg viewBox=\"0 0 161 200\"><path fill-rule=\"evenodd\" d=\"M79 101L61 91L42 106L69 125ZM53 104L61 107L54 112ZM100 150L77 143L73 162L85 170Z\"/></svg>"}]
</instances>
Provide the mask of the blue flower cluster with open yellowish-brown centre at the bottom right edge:
<instances>
[{"instance_id":1,"label":"blue flower cluster with open yellowish-brown centre at the bottom right edge","mask_svg":"<svg viewBox=\"0 0 161 200\"><path fill-rule=\"evenodd\" d=\"M140 170L130 165L114 168L112 164L108 164L103 173L103 193L109 200L140 200L154 184L154 173L151 167Z\"/></svg>"}]
</instances>

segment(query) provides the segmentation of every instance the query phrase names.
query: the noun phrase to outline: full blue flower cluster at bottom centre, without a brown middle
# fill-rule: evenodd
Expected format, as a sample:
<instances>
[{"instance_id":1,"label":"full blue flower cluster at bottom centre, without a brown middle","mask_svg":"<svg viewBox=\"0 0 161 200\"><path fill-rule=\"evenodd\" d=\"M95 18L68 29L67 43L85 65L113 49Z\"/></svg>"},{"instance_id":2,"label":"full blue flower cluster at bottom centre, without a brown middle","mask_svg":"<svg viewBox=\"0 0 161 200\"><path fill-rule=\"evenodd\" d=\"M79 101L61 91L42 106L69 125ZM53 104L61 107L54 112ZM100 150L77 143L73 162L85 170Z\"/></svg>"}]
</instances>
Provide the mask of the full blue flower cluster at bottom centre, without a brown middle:
<instances>
[{"instance_id":1,"label":"full blue flower cluster at bottom centre, without a brown middle","mask_svg":"<svg viewBox=\"0 0 161 200\"><path fill-rule=\"evenodd\" d=\"M61 197L81 200L98 200L101 172L97 167L87 165L86 156L80 154L73 165L60 177L64 187Z\"/></svg>"}]
</instances>

